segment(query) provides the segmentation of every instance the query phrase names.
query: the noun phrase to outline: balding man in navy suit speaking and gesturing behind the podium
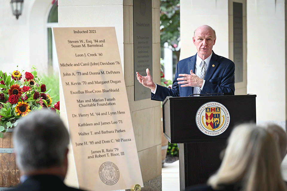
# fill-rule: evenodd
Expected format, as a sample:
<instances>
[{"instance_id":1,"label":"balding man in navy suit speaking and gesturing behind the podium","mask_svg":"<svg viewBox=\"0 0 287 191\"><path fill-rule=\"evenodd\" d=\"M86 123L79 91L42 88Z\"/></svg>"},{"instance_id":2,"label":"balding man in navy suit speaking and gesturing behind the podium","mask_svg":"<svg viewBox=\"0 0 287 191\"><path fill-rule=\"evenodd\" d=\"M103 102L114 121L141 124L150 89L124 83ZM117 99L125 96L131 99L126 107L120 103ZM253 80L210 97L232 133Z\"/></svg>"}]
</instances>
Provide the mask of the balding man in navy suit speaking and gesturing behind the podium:
<instances>
[{"instance_id":1,"label":"balding man in navy suit speaking and gesturing behind the podium","mask_svg":"<svg viewBox=\"0 0 287 191\"><path fill-rule=\"evenodd\" d=\"M193 44L197 53L177 63L172 89L155 84L146 69L147 76L137 72L138 81L152 91L151 99L164 101L167 96L184 97L195 94L231 93L234 95L234 62L216 55L215 31L202 25L194 31Z\"/></svg>"}]
</instances>

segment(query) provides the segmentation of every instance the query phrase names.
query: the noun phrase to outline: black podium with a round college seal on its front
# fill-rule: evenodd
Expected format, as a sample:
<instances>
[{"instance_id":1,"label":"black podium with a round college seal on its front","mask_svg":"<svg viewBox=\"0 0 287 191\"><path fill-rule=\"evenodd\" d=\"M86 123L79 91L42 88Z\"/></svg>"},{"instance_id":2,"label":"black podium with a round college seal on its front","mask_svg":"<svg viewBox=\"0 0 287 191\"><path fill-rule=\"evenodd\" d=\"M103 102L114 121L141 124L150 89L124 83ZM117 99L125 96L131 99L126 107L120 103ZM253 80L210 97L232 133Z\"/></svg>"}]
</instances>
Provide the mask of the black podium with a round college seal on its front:
<instances>
[{"instance_id":1,"label":"black podium with a round college seal on its front","mask_svg":"<svg viewBox=\"0 0 287 191\"><path fill-rule=\"evenodd\" d=\"M180 190L204 184L221 164L220 152L236 124L256 123L256 95L167 97L164 136L179 143Z\"/></svg>"}]
</instances>

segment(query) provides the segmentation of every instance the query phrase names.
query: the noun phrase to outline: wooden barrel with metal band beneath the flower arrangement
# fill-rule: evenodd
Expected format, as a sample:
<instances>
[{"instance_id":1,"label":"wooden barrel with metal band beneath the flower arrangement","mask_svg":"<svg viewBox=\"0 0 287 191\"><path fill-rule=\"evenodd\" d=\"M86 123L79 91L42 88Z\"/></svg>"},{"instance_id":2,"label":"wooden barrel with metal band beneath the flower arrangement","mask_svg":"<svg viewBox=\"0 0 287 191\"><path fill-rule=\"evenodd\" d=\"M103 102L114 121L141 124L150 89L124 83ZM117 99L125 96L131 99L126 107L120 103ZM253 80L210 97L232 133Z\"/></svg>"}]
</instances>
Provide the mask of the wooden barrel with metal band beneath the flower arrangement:
<instances>
[{"instance_id":1,"label":"wooden barrel with metal band beneath the flower arrangement","mask_svg":"<svg viewBox=\"0 0 287 191\"><path fill-rule=\"evenodd\" d=\"M0 138L0 190L17 187L20 172L16 166L12 142L13 128L9 128L4 137Z\"/></svg>"}]
</instances>

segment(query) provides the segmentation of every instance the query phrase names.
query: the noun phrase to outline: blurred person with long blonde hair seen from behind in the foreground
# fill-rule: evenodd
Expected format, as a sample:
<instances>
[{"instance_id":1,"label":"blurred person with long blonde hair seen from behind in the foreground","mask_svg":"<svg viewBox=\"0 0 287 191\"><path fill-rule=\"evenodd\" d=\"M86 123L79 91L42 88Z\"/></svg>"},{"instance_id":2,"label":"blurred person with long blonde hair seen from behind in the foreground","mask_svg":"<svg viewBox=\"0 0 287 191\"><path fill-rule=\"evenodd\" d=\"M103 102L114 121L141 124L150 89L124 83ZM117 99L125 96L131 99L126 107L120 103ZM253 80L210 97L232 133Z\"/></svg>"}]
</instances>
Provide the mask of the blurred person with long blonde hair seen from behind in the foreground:
<instances>
[{"instance_id":1,"label":"blurred person with long blonde hair seen from behind in the foreground","mask_svg":"<svg viewBox=\"0 0 287 191\"><path fill-rule=\"evenodd\" d=\"M255 124L235 127L218 171L207 185L187 190L286 191L278 144L265 128Z\"/></svg>"}]
</instances>

